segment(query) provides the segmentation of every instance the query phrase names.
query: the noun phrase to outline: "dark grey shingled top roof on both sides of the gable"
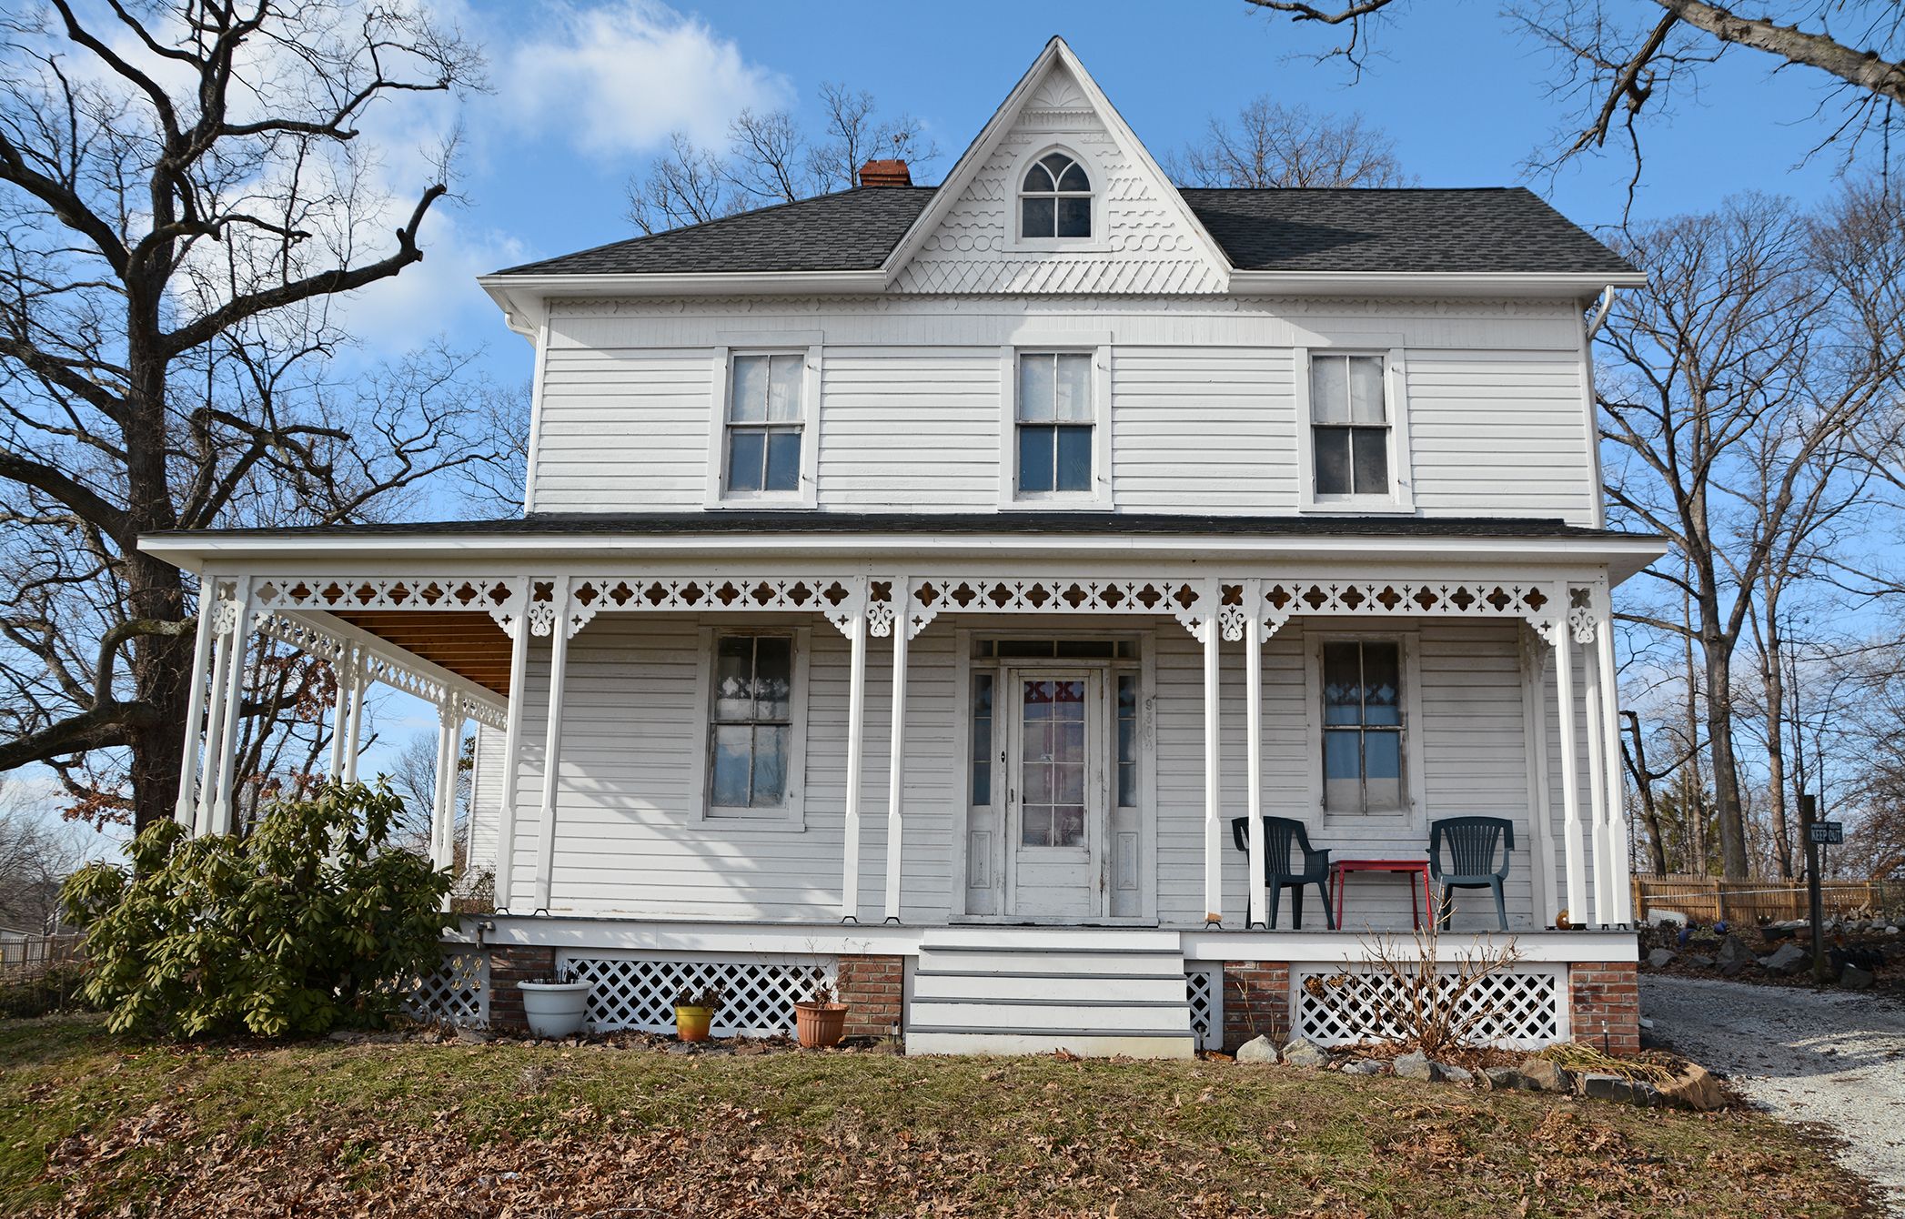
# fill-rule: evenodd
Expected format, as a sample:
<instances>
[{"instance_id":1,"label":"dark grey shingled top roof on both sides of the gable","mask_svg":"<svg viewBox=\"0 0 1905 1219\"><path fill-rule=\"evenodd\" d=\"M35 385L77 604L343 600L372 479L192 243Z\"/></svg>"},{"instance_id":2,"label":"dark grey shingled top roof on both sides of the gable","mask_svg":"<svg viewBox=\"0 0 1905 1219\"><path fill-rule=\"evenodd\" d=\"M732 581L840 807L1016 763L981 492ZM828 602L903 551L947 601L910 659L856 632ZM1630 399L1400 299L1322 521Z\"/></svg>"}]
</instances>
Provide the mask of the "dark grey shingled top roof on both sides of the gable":
<instances>
[{"instance_id":1,"label":"dark grey shingled top roof on both sides of the gable","mask_svg":"<svg viewBox=\"0 0 1905 1219\"><path fill-rule=\"evenodd\" d=\"M497 274L872 270L935 187L871 187L566 253ZM1631 272L1522 187L1185 189L1240 270Z\"/></svg>"}]
</instances>

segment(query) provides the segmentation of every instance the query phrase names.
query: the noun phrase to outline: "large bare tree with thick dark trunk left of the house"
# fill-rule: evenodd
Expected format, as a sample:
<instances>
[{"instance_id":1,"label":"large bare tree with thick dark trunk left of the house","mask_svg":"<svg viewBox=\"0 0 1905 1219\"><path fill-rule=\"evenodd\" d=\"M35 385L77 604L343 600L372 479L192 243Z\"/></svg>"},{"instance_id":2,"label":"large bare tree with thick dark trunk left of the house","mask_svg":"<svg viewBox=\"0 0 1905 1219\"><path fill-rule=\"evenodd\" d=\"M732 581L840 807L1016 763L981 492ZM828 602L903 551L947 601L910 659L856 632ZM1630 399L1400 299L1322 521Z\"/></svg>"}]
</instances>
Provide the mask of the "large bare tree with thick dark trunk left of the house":
<instances>
[{"instance_id":1,"label":"large bare tree with thick dark trunk left of the house","mask_svg":"<svg viewBox=\"0 0 1905 1219\"><path fill-rule=\"evenodd\" d=\"M423 257L360 137L482 61L410 6L170 0L0 17L0 769L135 825L177 794L192 589L141 533L364 520L476 461L467 356L347 377L341 299ZM250 701L246 714L267 710Z\"/></svg>"}]
</instances>

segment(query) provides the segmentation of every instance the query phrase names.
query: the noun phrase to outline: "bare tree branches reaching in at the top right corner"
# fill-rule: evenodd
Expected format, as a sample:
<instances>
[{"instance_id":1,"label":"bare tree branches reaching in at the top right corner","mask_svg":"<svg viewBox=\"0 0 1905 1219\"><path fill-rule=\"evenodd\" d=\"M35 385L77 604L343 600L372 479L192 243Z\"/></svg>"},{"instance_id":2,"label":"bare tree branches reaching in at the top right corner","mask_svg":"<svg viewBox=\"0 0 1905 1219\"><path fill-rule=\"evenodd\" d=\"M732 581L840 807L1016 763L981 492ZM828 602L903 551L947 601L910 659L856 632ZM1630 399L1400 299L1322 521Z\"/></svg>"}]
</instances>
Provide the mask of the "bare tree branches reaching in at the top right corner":
<instances>
[{"instance_id":1,"label":"bare tree branches reaching in at the top right corner","mask_svg":"<svg viewBox=\"0 0 1905 1219\"><path fill-rule=\"evenodd\" d=\"M1400 19L1408 0L1250 0L1299 27L1330 30L1335 46L1316 59L1343 59L1362 74L1377 27ZM1421 8L1421 6L1414 6ZM1676 95L1692 95L1722 55L1764 55L1777 70L1819 74L1827 97L1817 149L1838 147L1850 160L1867 137L1888 139L1905 101L1905 6L1895 0L1766 0L1753 15L1703 0L1511 0L1505 17L1554 53L1553 93L1566 118L1539 166L1619 137L1640 168L1640 124L1671 112Z\"/></svg>"}]
</instances>

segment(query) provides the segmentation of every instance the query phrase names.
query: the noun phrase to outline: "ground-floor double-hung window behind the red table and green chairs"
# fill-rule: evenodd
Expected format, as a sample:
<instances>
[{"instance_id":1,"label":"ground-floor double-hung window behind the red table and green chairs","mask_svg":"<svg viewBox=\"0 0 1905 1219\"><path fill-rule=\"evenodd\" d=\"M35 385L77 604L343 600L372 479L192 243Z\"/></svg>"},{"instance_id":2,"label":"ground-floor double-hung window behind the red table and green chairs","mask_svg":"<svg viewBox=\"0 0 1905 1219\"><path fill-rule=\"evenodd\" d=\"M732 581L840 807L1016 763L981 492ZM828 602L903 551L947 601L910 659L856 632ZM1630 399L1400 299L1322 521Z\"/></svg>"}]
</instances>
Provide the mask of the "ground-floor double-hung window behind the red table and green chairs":
<instances>
[{"instance_id":1,"label":"ground-floor double-hung window behind the red table and green chairs","mask_svg":"<svg viewBox=\"0 0 1905 1219\"><path fill-rule=\"evenodd\" d=\"M1322 644L1322 802L1332 813L1404 811L1402 646Z\"/></svg>"}]
</instances>

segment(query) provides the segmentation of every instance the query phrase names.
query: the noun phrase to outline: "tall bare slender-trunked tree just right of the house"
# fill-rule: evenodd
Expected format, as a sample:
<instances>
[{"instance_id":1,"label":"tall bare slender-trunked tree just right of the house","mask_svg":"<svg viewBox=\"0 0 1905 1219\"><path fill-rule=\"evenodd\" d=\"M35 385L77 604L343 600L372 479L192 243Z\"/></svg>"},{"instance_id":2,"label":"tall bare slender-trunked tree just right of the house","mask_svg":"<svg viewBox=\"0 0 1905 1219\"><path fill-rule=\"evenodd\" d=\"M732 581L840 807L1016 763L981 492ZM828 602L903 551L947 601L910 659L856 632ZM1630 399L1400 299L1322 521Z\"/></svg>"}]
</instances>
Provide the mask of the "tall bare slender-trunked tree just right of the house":
<instances>
[{"instance_id":1,"label":"tall bare slender-trunked tree just right of the house","mask_svg":"<svg viewBox=\"0 0 1905 1219\"><path fill-rule=\"evenodd\" d=\"M1817 217L1743 196L1634 229L1623 248L1652 282L1602 330L1608 495L1673 539L1684 571L1648 575L1688 604L1684 621L1623 617L1697 649L1722 870L1745 876L1734 655L1768 570L1802 573L1863 503L1867 457L1895 450L1905 227L1878 189L1848 189Z\"/></svg>"}]
</instances>

